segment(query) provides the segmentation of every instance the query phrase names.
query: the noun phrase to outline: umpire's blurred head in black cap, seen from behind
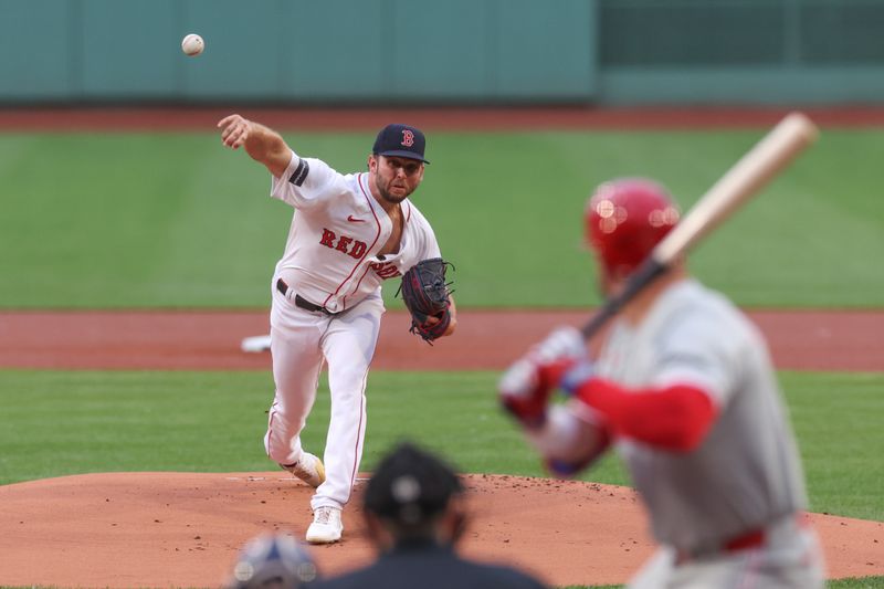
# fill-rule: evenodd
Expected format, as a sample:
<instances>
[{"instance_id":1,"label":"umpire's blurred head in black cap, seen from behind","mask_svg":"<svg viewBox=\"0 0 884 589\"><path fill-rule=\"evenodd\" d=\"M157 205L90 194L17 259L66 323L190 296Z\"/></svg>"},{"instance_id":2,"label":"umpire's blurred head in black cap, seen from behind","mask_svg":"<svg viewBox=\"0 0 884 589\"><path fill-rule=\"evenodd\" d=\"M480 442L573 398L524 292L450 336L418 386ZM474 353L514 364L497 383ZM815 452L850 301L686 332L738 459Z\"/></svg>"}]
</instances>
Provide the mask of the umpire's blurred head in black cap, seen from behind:
<instances>
[{"instance_id":1,"label":"umpire's blurred head in black cap, seen from behind","mask_svg":"<svg viewBox=\"0 0 884 589\"><path fill-rule=\"evenodd\" d=\"M401 443L366 486L369 533L382 549L408 539L453 543L463 530L457 501L462 493L463 485L449 465L412 443Z\"/></svg>"}]
</instances>

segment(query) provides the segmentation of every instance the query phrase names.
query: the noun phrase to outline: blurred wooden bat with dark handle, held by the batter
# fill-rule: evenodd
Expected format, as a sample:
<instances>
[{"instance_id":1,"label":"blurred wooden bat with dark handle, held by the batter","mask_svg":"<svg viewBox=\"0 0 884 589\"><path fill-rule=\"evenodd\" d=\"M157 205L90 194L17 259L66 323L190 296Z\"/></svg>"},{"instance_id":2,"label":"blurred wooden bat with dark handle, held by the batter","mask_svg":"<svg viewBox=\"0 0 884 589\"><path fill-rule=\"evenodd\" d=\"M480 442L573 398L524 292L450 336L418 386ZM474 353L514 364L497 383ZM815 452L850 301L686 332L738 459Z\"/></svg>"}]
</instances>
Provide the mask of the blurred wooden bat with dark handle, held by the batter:
<instances>
[{"instance_id":1,"label":"blurred wooden bat with dark handle, held by the batter","mask_svg":"<svg viewBox=\"0 0 884 589\"><path fill-rule=\"evenodd\" d=\"M589 339L655 278L696 245L712 230L754 197L801 151L810 146L819 129L803 114L787 115L739 161L709 188L678 224L656 244L642 264L627 278L617 296L608 298L581 328Z\"/></svg>"}]
</instances>

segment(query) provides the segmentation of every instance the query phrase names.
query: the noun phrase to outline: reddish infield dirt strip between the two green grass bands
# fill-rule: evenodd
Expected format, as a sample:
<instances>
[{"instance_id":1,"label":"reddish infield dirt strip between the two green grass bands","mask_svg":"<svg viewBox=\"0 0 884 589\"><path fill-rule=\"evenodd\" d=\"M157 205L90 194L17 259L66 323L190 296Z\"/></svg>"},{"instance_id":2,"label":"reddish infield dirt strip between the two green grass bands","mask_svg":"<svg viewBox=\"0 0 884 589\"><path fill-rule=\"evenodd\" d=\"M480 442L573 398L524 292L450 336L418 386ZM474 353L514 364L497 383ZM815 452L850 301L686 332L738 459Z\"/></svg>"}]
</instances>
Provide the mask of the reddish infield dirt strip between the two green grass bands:
<instances>
[{"instance_id":1,"label":"reddish infield dirt strip between the two green grass bands","mask_svg":"<svg viewBox=\"0 0 884 589\"><path fill-rule=\"evenodd\" d=\"M457 337L428 346L404 312L381 322L376 370L497 370L551 328L581 325L590 311L459 313ZM884 369L884 312L755 311L774 361L789 370ZM54 369L270 369L270 355L243 354L242 338L266 334L266 312L0 312L0 367Z\"/></svg>"}]
</instances>

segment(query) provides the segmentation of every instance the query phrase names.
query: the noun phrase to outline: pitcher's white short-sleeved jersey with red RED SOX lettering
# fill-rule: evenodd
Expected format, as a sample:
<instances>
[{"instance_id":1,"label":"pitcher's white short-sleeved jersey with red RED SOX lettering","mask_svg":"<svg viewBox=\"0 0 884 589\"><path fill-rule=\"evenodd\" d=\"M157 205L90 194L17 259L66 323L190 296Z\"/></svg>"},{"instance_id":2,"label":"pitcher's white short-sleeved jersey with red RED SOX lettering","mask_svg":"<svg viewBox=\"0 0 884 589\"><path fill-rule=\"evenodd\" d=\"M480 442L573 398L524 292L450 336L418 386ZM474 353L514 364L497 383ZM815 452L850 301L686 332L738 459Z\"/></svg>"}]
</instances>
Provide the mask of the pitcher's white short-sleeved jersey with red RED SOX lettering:
<instances>
[{"instance_id":1,"label":"pitcher's white short-sleeved jersey with red RED SOX lettering","mask_svg":"<svg viewBox=\"0 0 884 589\"><path fill-rule=\"evenodd\" d=\"M399 251L377 255L393 225L371 196L368 178L368 172L338 173L294 151L285 172L273 178L271 196L296 209L276 274L332 313L352 307L421 260L441 255L430 223L408 199L401 203Z\"/></svg>"}]
</instances>

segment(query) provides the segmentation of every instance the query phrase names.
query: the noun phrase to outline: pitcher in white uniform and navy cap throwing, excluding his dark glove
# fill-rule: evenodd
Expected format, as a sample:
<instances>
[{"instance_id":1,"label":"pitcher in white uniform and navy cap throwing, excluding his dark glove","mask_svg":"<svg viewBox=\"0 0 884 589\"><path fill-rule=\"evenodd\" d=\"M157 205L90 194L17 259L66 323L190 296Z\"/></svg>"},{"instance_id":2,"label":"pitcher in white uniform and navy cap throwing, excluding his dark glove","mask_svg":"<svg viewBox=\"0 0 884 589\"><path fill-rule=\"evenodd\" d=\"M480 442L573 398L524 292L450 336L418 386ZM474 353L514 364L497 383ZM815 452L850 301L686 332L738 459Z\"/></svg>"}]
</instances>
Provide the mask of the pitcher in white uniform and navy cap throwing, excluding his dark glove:
<instances>
[{"instance_id":1,"label":"pitcher in white uniform and navy cap throwing, excluding his dark glove","mask_svg":"<svg viewBox=\"0 0 884 589\"><path fill-rule=\"evenodd\" d=\"M240 115L218 127L227 147L242 146L266 166L271 197L295 209L271 282L276 392L264 445L272 460L316 487L307 541L334 543L362 455L366 379L385 312L381 283L441 256L430 223L409 200L423 180L425 139L412 126L388 125L368 156L368 171L341 175ZM422 319L428 337L451 335L453 299L434 313ZM301 445L324 362L332 393L325 462Z\"/></svg>"}]
</instances>

